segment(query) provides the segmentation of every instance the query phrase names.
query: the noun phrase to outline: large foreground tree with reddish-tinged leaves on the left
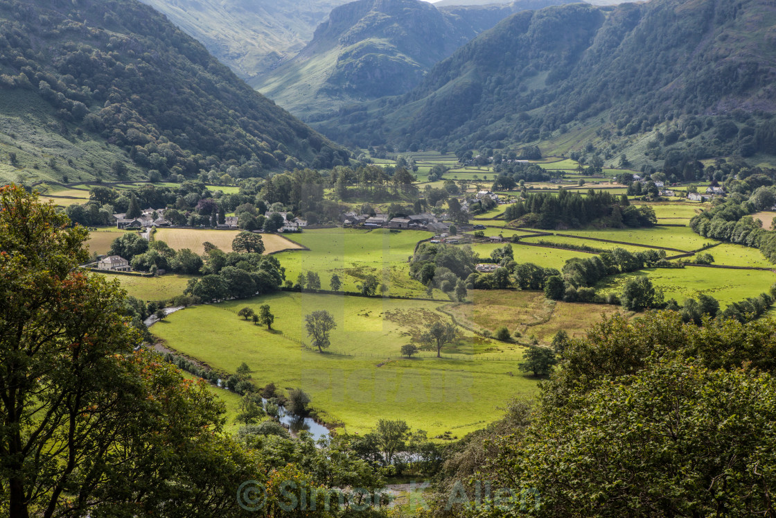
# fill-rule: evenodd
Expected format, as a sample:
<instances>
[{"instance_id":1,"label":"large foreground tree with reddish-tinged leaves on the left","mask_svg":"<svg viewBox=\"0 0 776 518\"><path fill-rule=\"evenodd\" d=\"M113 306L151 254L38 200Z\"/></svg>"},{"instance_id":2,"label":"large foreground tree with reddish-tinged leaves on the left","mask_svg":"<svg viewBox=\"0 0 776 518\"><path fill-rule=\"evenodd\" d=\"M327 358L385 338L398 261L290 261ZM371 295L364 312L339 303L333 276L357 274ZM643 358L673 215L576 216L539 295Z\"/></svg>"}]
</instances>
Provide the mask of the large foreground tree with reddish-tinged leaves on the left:
<instances>
[{"instance_id":1,"label":"large foreground tree with reddish-tinged leaves on the left","mask_svg":"<svg viewBox=\"0 0 776 518\"><path fill-rule=\"evenodd\" d=\"M222 435L223 406L153 353L133 353L125 294L77 267L85 229L14 186L0 188L0 209L5 512L165 516L174 499L193 516L237 513L227 488L265 475Z\"/></svg>"}]
</instances>

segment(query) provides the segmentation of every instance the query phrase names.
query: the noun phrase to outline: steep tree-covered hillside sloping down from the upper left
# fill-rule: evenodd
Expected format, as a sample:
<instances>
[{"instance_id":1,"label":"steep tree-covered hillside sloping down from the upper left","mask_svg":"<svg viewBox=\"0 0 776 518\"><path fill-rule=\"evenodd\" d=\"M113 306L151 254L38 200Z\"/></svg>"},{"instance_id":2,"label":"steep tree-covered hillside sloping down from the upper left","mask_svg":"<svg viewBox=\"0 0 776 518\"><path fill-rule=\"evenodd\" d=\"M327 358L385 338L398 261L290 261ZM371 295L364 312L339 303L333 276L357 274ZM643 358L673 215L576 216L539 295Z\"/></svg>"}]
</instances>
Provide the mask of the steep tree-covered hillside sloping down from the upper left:
<instances>
[{"instance_id":1,"label":"steep tree-covered hillside sloping down from the upper left","mask_svg":"<svg viewBox=\"0 0 776 518\"><path fill-rule=\"evenodd\" d=\"M0 0L0 99L5 180L346 159L135 0Z\"/></svg>"}]
</instances>

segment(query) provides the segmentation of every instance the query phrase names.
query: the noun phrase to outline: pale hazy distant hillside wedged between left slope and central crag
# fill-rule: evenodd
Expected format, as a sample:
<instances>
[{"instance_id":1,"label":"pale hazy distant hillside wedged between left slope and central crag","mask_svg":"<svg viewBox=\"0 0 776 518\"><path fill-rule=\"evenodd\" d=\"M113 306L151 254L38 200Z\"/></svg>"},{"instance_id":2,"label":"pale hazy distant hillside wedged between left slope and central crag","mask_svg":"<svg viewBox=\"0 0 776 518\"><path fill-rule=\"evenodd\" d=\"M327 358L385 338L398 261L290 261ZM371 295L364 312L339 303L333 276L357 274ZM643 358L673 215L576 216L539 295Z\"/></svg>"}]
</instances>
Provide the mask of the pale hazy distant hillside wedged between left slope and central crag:
<instances>
[{"instance_id":1,"label":"pale hazy distant hillside wedged between left slope and central crag","mask_svg":"<svg viewBox=\"0 0 776 518\"><path fill-rule=\"evenodd\" d=\"M202 42L248 84L293 57L349 0L141 0Z\"/></svg>"}]
</instances>

